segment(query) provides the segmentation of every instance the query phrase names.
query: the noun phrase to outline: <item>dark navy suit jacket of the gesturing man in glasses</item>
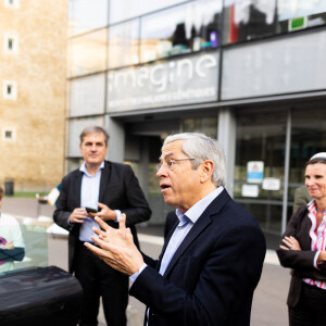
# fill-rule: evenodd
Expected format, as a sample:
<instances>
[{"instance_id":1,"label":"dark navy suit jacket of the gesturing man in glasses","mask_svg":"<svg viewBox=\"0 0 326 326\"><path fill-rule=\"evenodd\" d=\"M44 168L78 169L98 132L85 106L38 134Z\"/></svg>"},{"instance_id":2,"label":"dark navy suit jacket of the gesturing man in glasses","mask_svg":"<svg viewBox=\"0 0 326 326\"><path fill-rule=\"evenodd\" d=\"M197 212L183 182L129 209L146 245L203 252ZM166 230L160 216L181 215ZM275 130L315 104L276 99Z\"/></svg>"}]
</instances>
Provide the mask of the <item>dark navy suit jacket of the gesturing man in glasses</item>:
<instances>
[{"instance_id":1,"label":"dark navy suit jacket of the gesturing man in glasses","mask_svg":"<svg viewBox=\"0 0 326 326\"><path fill-rule=\"evenodd\" d=\"M148 325L250 325L254 288L266 252L255 218L223 192L208 206L174 254L164 276L147 266L129 293L150 308Z\"/></svg>"}]
</instances>

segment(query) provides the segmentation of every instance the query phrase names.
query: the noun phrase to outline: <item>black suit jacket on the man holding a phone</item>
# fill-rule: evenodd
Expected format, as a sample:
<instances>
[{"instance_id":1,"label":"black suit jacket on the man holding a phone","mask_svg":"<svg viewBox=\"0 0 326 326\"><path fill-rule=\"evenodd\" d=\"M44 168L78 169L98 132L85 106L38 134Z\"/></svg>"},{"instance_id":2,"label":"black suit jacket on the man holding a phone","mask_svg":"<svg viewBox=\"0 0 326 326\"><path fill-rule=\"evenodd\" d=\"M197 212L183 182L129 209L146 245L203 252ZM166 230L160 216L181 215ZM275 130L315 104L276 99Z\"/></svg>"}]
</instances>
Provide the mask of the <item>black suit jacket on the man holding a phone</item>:
<instances>
[{"instance_id":1,"label":"black suit jacket on the man holding a phone","mask_svg":"<svg viewBox=\"0 0 326 326\"><path fill-rule=\"evenodd\" d=\"M71 273L74 272L74 253L79 238L80 224L68 225L67 220L76 208L80 208L82 177L83 172L75 170L62 179L58 206L53 213L54 222L70 231L68 268ZM126 214L126 226L130 227L135 242L138 244L135 224L148 221L151 210L129 165L104 161L99 202ZM112 227L118 227L116 222L106 223Z\"/></svg>"}]
</instances>

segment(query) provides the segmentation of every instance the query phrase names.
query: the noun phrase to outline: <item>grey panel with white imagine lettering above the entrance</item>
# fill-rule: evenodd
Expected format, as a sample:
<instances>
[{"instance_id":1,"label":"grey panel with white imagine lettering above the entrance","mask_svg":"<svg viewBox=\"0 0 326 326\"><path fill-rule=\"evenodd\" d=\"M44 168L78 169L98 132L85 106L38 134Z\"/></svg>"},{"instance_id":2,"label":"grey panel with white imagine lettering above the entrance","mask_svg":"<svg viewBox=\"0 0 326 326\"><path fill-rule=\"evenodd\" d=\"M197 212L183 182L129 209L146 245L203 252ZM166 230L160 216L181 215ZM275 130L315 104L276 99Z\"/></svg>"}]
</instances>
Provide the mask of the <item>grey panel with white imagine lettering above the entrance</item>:
<instances>
[{"instance_id":1,"label":"grey panel with white imagine lettering above the entrance","mask_svg":"<svg viewBox=\"0 0 326 326\"><path fill-rule=\"evenodd\" d=\"M218 52L109 72L109 111L217 100Z\"/></svg>"}]
</instances>

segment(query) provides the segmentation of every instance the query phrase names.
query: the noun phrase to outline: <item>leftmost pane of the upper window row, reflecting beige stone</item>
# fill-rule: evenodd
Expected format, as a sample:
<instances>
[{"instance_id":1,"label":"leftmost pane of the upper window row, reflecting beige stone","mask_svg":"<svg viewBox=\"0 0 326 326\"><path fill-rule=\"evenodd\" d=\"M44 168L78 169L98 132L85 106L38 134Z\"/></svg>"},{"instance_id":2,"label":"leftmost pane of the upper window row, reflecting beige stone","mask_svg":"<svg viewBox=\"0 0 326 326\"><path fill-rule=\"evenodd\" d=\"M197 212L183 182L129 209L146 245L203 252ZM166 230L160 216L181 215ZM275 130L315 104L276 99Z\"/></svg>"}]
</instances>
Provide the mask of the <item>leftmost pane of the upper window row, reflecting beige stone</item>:
<instances>
[{"instance_id":1,"label":"leftmost pane of the upper window row, reflecting beige stone","mask_svg":"<svg viewBox=\"0 0 326 326\"><path fill-rule=\"evenodd\" d=\"M105 70L106 33L104 28L70 40L70 77Z\"/></svg>"}]
</instances>

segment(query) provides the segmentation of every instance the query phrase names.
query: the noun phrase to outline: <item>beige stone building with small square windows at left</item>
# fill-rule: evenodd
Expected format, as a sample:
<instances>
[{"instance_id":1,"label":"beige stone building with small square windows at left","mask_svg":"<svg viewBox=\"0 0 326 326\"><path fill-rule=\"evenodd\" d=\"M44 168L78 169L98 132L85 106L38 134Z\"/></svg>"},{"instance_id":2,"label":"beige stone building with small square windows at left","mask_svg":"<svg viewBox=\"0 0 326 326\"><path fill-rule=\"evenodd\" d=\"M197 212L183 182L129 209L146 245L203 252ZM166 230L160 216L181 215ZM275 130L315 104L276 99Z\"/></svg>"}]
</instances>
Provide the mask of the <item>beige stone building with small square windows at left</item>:
<instances>
[{"instance_id":1,"label":"beige stone building with small square windows at left","mask_svg":"<svg viewBox=\"0 0 326 326\"><path fill-rule=\"evenodd\" d=\"M0 1L0 184L48 191L64 173L66 0Z\"/></svg>"}]
</instances>

